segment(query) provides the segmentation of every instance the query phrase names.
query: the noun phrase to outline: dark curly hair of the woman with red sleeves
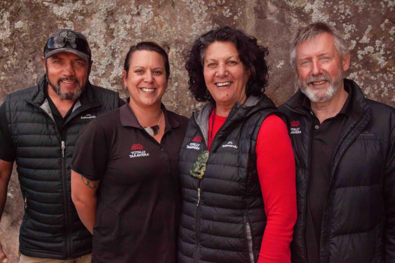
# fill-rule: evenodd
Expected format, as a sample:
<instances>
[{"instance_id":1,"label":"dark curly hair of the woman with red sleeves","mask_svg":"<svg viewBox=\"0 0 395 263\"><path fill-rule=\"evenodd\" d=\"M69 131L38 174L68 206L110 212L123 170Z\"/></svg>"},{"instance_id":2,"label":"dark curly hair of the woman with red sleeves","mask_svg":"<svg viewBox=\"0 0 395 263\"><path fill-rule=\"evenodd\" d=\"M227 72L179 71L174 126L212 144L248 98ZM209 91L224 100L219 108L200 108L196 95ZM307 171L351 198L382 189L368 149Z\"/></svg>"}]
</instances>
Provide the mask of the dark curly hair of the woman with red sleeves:
<instances>
[{"instance_id":1,"label":"dark curly hair of the woman with red sleeves","mask_svg":"<svg viewBox=\"0 0 395 263\"><path fill-rule=\"evenodd\" d=\"M269 54L267 47L258 45L256 38L235 30L229 26L217 28L201 35L192 45L192 49L185 56L185 69L189 75L189 91L197 101L211 101L213 98L207 92L203 76L203 62L206 48L215 41L232 42L239 52L250 76L247 80L246 95L260 96L267 86L269 78L265 56Z\"/></svg>"}]
</instances>

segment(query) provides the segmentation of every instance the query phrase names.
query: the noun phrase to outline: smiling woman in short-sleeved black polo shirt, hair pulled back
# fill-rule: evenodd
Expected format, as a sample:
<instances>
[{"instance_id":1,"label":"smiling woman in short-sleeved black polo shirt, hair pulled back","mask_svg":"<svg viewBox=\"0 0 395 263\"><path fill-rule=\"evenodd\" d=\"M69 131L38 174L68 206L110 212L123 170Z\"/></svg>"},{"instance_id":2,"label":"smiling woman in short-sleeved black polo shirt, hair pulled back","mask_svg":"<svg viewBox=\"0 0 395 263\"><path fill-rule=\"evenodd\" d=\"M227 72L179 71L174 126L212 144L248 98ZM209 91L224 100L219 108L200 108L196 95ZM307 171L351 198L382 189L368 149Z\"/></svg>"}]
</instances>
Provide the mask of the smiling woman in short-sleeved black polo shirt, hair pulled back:
<instances>
[{"instance_id":1,"label":"smiling woman in short-sleeved black polo shirt, hair pulled back","mask_svg":"<svg viewBox=\"0 0 395 263\"><path fill-rule=\"evenodd\" d=\"M177 164L187 119L161 103L169 74L163 48L132 46L122 72L128 103L79 134L71 193L93 233L92 262L177 262Z\"/></svg>"}]
</instances>

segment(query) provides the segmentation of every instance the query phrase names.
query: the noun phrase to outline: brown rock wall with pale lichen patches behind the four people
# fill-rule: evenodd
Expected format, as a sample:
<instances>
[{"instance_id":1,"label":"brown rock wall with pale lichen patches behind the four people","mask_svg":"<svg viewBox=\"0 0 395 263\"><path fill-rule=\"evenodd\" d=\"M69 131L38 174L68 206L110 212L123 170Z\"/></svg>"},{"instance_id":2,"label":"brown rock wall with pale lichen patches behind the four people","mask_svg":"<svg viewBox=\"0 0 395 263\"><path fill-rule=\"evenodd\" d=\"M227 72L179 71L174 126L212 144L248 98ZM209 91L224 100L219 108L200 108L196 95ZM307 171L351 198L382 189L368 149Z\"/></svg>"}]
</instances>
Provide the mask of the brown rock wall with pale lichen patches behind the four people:
<instances>
[{"instance_id":1,"label":"brown rock wall with pale lichen patches behind the four people","mask_svg":"<svg viewBox=\"0 0 395 263\"><path fill-rule=\"evenodd\" d=\"M367 97L395 106L393 0L3 0L0 2L0 103L6 94L33 86L43 74L47 36L59 28L83 32L94 60L92 83L123 98L122 65L130 45L152 40L168 50L171 82L163 101L190 116L202 106L189 97L184 54L203 32L229 25L269 47L269 87L277 105L294 92L288 45L299 26L325 21L344 33L351 65L348 78ZM0 224L0 241L17 262L23 201L13 172Z\"/></svg>"}]
</instances>

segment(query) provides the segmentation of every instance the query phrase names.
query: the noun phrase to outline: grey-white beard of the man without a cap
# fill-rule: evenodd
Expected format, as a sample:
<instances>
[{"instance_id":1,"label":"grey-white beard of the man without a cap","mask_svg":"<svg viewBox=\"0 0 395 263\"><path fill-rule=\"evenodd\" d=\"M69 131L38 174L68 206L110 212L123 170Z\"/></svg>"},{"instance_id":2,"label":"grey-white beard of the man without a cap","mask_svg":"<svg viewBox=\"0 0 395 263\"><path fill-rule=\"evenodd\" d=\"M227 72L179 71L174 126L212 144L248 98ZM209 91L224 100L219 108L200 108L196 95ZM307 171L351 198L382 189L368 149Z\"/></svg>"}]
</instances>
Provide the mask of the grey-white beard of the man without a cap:
<instances>
[{"instance_id":1,"label":"grey-white beard of the man without a cap","mask_svg":"<svg viewBox=\"0 0 395 263\"><path fill-rule=\"evenodd\" d=\"M333 98L336 92L339 90L340 86L343 83L343 69L340 69L339 76L335 80L331 79L328 73L324 72L318 76L309 76L306 80L305 86L300 82L300 78L297 79L297 85L299 90L302 91L303 94L311 101L315 103L325 102ZM308 84L317 81L317 80L325 80L329 82L329 86L326 89L314 89L310 87ZM323 95L322 95L323 94Z\"/></svg>"}]
</instances>

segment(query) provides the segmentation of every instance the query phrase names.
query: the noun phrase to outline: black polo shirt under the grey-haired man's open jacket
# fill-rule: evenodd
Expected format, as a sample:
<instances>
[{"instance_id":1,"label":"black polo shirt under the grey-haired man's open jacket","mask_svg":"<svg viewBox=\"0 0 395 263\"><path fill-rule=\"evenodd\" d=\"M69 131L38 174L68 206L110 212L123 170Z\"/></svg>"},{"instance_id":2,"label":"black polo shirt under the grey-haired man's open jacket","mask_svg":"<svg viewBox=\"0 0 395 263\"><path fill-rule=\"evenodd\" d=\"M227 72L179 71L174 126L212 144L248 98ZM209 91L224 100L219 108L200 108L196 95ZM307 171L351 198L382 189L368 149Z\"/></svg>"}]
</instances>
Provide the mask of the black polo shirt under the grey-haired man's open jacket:
<instances>
[{"instance_id":1,"label":"black polo shirt under the grey-haired man's open jacket","mask_svg":"<svg viewBox=\"0 0 395 263\"><path fill-rule=\"evenodd\" d=\"M340 112L335 117L325 119L321 124L311 110L308 98L305 97L303 101L303 107L310 112L312 117L305 228L309 263L320 262L322 216L329 190L333 154L340 142L343 128L347 126L345 124L353 114L353 94L347 84L344 84L344 90L348 92L348 97Z\"/></svg>"}]
</instances>

